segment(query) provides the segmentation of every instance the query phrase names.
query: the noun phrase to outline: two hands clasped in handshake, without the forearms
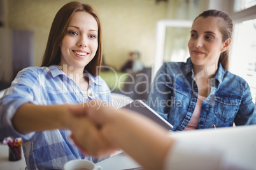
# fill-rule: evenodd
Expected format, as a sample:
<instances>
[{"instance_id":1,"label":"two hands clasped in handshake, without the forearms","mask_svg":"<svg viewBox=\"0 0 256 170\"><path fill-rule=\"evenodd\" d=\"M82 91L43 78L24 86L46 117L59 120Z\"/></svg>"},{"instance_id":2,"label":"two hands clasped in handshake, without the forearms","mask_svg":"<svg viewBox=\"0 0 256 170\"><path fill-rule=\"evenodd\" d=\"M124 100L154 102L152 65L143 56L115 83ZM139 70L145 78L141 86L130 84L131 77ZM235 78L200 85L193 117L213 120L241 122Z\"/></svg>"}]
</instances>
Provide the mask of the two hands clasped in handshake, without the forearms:
<instances>
[{"instance_id":1,"label":"two hands clasped in handshake, without the forearms","mask_svg":"<svg viewBox=\"0 0 256 170\"><path fill-rule=\"evenodd\" d=\"M111 128L111 121L108 120L113 116L111 110L114 108L101 107L97 101L69 106L73 116L73 124L69 128L72 132L71 139L83 154L101 157L118 150L107 135Z\"/></svg>"}]
</instances>

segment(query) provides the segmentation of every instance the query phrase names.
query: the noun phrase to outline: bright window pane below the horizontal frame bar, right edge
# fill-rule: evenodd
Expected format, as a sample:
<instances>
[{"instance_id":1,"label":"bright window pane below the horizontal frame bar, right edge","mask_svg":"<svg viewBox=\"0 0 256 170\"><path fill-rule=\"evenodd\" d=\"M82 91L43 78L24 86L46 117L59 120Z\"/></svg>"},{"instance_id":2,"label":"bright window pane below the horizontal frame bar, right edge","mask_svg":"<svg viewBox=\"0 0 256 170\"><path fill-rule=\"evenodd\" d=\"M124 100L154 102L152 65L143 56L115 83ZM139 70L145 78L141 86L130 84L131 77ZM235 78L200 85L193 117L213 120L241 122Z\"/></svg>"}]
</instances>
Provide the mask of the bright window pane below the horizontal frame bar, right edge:
<instances>
[{"instance_id":1,"label":"bright window pane below the horizontal frame bar, right edge","mask_svg":"<svg viewBox=\"0 0 256 170\"><path fill-rule=\"evenodd\" d=\"M234 27L230 71L245 79L256 99L256 19L236 23Z\"/></svg>"}]
</instances>

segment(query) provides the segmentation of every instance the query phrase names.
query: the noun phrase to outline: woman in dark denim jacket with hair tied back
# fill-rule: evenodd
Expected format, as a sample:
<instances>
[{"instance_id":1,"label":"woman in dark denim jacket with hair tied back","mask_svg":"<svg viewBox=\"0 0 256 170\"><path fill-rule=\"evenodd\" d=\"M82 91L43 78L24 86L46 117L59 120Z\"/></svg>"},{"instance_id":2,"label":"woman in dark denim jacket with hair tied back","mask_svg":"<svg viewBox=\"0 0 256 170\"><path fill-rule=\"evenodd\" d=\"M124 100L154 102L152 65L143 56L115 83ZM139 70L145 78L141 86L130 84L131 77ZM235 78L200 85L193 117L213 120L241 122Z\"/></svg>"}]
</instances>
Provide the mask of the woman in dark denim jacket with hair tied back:
<instances>
[{"instance_id":1,"label":"woman in dark denim jacket with hair tied back","mask_svg":"<svg viewBox=\"0 0 256 170\"><path fill-rule=\"evenodd\" d=\"M256 124L250 87L227 71L232 19L208 10L194 20L187 62L167 62L155 75L147 104L173 131Z\"/></svg>"}]
</instances>

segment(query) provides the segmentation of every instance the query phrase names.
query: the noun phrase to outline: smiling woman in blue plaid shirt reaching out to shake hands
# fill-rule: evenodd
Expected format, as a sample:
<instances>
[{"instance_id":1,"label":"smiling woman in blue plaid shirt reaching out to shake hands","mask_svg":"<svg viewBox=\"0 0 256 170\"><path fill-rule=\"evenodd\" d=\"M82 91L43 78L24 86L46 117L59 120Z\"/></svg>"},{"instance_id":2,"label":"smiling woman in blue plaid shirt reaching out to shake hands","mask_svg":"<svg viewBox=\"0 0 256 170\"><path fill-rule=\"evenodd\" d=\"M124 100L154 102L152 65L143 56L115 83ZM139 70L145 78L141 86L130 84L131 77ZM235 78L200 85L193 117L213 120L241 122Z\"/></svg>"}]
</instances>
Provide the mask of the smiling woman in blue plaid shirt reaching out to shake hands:
<instances>
[{"instance_id":1,"label":"smiling woman in blue plaid shirt reaching out to shake hands","mask_svg":"<svg viewBox=\"0 0 256 170\"><path fill-rule=\"evenodd\" d=\"M106 146L86 117L70 107L89 100L110 102L110 89L99 77L102 59L101 23L88 4L71 2L57 12L41 67L20 71L0 101L0 138L22 137L27 169L63 169L85 156L75 146ZM79 104L79 105L75 105ZM102 158L104 159L104 158Z\"/></svg>"}]
</instances>

